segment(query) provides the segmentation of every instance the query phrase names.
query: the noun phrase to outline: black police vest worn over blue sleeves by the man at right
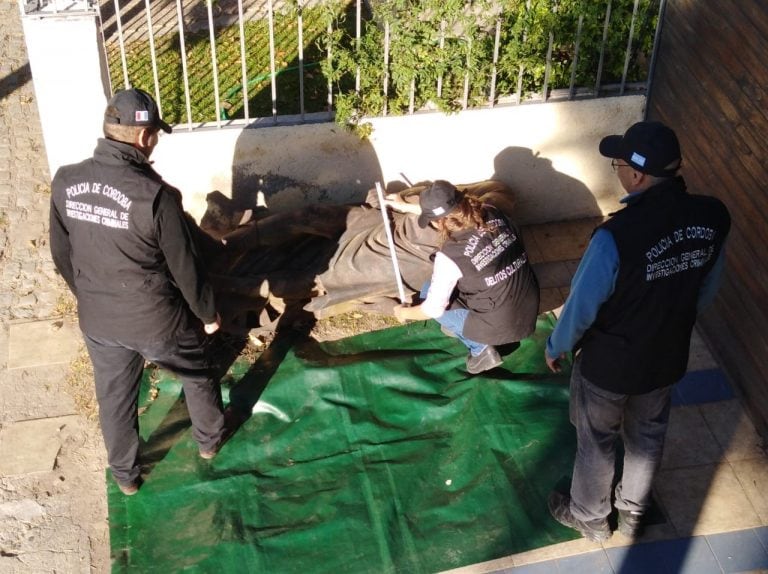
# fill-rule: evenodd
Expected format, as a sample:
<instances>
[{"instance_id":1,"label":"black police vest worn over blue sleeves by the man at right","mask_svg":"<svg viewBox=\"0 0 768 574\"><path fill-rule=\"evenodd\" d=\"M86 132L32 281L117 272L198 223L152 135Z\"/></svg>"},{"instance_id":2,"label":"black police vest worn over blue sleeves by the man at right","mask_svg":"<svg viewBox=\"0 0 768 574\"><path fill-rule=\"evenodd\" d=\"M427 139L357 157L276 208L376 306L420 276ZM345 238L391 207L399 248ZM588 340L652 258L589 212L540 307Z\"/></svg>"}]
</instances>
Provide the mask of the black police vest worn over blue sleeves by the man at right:
<instances>
[{"instance_id":1,"label":"black police vest worn over blue sleeves by the man at right","mask_svg":"<svg viewBox=\"0 0 768 574\"><path fill-rule=\"evenodd\" d=\"M702 280L728 230L728 210L691 195L676 177L655 185L601 225L619 253L613 294L580 342L581 370L595 385L642 394L685 374Z\"/></svg>"}]
</instances>

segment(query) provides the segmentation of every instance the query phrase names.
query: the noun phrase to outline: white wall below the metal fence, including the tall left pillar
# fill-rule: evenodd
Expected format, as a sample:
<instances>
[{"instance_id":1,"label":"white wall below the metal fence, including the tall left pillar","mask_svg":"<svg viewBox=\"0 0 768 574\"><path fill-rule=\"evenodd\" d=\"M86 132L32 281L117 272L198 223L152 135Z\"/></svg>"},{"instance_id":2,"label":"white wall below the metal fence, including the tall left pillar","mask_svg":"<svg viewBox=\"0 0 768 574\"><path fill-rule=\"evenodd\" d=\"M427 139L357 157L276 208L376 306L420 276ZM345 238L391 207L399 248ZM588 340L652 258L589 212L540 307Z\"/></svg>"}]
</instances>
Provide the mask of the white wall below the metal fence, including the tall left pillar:
<instances>
[{"instance_id":1,"label":"white wall below the metal fence, including the tall left pillar","mask_svg":"<svg viewBox=\"0 0 768 574\"><path fill-rule=\"evenodd\" d=\"M24 31L51 173L91 155L109 81L94 15L25 17ZM332 123L177 127L155 167L197 218L219 190L243 205L359 202L374 182L500 179L519 200L517 220L540 223L614 210L622 195L600 138L642 119L645 97L594 99L373 118L360 140Z\"/></svg>"}]
</instances>

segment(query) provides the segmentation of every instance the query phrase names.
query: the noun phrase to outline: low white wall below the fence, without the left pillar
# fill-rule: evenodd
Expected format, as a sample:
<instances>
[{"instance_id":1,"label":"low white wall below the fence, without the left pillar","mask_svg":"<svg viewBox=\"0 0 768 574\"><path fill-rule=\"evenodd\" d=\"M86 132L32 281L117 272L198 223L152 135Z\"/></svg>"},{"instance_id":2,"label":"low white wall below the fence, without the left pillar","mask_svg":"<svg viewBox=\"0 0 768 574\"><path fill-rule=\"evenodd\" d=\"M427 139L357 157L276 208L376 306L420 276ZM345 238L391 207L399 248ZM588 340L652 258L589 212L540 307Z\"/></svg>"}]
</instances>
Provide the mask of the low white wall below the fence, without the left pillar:
<instances>
[{"instance_id":1,"label":"low white wall below the fence, without the left pillar","mask_svg":"<svg viewBox=\"0 0 768 574\"><path fill-rule=\"evenodd\" d=\"M177 130L154 159L196 217L214 189L243 204L262 192L283 210L360 201L376 181L493 178L516 191L520 223L559 221L618 207L622 193L598 142L642 119L644 104L633 96L374 118L369 140L329 123Z\"/></svg>"}]
</instances>

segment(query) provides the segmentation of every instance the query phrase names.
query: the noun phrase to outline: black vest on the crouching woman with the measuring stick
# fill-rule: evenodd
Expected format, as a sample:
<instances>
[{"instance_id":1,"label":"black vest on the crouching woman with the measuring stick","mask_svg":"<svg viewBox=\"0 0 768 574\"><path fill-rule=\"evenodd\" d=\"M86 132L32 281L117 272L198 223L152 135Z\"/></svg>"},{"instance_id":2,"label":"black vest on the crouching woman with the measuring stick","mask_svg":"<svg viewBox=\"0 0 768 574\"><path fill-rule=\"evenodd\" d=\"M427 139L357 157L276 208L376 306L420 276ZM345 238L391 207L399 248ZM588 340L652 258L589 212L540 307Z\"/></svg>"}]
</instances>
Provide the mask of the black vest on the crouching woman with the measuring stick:
<instances>
[{"instance_id":1,"label":"black vest on the crouching woman with the measuring stick","mask_svg":"<svg viewBox=\"0 0 768 574\"><path fill-rule=\"evenodd\" d=\"M539 284L519 230L495 207L483 208L487 229L454 233L440 251L462 273L451 307L469 309L464 336L502 345L533 333Z\"/></svg>"}]
</instances>

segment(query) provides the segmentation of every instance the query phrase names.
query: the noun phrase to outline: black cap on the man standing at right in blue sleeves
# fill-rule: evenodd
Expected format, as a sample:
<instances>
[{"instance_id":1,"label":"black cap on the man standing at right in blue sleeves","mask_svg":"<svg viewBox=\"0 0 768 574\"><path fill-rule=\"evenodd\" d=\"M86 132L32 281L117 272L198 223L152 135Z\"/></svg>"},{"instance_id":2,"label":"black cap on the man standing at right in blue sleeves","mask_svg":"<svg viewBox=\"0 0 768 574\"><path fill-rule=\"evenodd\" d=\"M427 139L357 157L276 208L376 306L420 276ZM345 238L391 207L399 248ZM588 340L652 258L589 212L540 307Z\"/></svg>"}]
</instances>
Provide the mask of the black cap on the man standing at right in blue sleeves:
<instances>
[{"instance_id":1,"label":"black cap on the man standing at right in blue sleeves","mask_svg":"<svg viewBox=\"0 0 768 574\"><path fill-rule=\"evenodd\" d=\"M637 171L657 177L674 175L681 159L675 132L661 122L638 122L623 136L604 137L600 153L623 159Z\"/></svg>"}]
</instances>

